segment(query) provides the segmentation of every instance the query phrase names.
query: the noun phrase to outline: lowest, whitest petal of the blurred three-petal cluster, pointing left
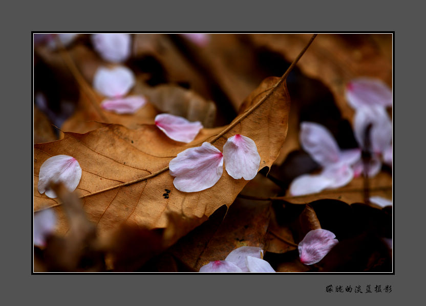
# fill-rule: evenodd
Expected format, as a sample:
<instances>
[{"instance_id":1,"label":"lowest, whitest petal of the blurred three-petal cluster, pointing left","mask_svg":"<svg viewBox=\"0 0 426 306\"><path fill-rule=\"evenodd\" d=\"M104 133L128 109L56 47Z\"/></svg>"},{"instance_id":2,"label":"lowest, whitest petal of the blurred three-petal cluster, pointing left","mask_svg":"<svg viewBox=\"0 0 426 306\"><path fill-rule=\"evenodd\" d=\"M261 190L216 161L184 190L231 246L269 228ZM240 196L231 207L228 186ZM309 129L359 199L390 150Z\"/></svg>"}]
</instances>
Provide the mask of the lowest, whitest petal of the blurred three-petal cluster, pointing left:
<instances>
[{"instance_id":1,"label":"lowest, whitest petal of the blurred three-petal cluster, pointing left","mask_svg":"<svg viewBox=\"0 0 426 306\"><path fill-rule=\"evenodd\" d=\"M296 177L290 184L292 196L303 196L323 191L333 180L322 175L303 174Z\"/></svg>"}]
</instances>

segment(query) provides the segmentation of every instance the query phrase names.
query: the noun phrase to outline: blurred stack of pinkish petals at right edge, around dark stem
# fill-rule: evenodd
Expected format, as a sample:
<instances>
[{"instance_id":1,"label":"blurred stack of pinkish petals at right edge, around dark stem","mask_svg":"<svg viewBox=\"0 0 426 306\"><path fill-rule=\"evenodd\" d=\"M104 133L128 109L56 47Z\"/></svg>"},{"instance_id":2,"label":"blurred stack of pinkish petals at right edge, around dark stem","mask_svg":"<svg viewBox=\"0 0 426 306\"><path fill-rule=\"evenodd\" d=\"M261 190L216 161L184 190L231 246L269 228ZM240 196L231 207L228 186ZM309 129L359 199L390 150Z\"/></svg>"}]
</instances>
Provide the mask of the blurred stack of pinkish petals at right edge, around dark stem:
<instances>
[{"instance_id":1,"label":"blurred stack of pinkish petals at right edge, around dark stem","mask_svg":"<svg viewBox=\"0 0 426 306\"><path fill-rule=\"evenodd\" d=\"M358 78L346 86L346 99L355 110L354 134L361 148L366 144L366 129L370 129L372 158L367 173L375 176L381 162L392 167L392 121L386 111L392 107L392 90L382 81L373 78ZM363 161L354 166L355 175L365 172Z\"/></svg>"}]
</instances>

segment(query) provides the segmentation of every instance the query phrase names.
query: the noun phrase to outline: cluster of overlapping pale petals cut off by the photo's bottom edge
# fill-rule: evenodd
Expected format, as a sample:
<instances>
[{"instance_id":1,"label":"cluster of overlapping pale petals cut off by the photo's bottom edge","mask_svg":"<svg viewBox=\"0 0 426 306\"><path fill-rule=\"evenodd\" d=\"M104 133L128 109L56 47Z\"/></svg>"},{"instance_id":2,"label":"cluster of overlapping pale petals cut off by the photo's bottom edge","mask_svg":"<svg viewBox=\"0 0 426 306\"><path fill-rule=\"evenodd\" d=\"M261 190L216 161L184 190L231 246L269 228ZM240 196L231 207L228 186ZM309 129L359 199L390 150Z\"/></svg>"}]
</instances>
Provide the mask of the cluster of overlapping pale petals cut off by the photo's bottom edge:
<instances>
[{"instance_id":1,"label":"cluster of overlapping pale petals cut off by the photo's bottom edge","mask_svg":"<svg viewBox=\"0 0 426 306\"><path fill-rule=\"evenodd\" d=\"M263 250L259 247L239 247L232 250L224 261L209 262L199 272L275 272L262 258Z\"/></svg>"}]
</instances>

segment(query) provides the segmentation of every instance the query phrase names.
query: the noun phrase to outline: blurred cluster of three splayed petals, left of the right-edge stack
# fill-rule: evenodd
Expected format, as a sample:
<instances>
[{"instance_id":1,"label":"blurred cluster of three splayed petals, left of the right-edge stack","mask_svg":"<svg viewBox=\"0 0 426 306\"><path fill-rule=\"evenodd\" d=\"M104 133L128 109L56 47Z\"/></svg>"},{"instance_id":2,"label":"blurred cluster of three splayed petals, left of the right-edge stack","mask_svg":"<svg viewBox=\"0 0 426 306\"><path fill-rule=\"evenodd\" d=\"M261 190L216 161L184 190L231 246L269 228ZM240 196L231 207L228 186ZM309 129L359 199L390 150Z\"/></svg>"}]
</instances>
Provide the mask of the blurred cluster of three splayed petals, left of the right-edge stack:
<instances>
[{"instance_id":1,"label":"blurred cluster of three splayed petals, left of the right-edge stack","mask_svg":"<svg viewBox=\"0 0 426 306\"><path fill-rule=\"evenodd\" d=\"M345 186L354 177L352 164L359 160L359 149L340 150L333 135L321 124L301 123L302 148L323 169L319 174L304 174L290 184L290 194L300 196Z\"/></svg>"}]
</instances>

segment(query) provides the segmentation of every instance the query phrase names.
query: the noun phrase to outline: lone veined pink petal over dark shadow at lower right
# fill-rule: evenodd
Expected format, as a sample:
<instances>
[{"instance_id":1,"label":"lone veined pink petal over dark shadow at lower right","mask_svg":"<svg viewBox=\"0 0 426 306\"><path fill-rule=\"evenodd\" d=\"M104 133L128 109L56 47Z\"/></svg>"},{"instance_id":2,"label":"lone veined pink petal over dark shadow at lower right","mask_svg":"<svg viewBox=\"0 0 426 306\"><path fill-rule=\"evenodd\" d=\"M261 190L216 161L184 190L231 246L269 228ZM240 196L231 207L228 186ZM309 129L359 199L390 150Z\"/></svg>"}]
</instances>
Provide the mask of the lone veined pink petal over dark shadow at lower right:
<instances>
[{"instance_id":1,"label":"lone veined pink petal over dark shadow at lower right","mask_svg":"<svg viewBox=\"0 0 426 306\"><path fill-rule=\"evenodd\" d=\"M318 228L311 230L299 243L300 261L305 265L313 265L321 261L338 243L336 235L329 230Z\"/></svg>"}]
</instances>

